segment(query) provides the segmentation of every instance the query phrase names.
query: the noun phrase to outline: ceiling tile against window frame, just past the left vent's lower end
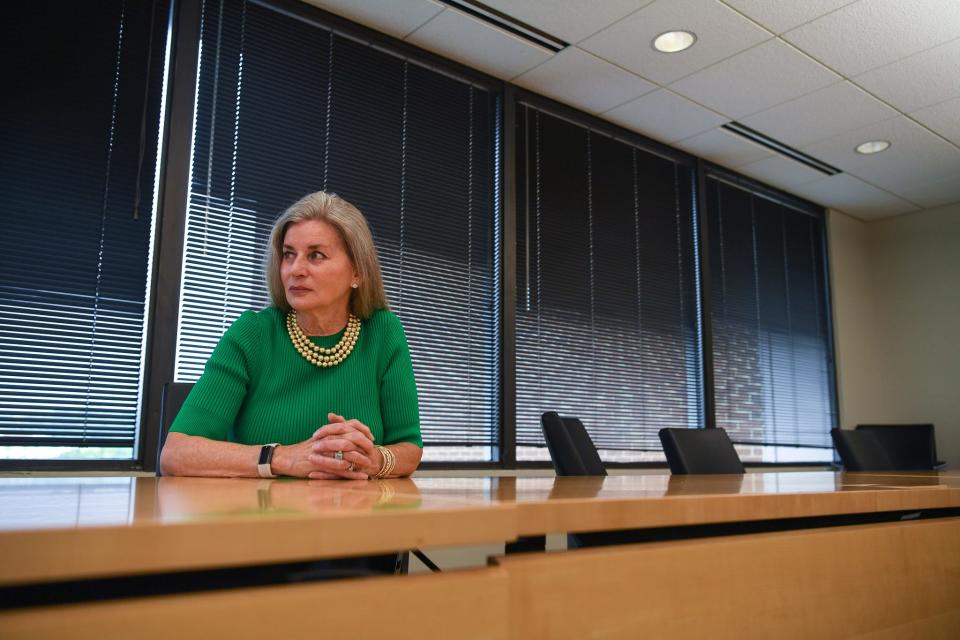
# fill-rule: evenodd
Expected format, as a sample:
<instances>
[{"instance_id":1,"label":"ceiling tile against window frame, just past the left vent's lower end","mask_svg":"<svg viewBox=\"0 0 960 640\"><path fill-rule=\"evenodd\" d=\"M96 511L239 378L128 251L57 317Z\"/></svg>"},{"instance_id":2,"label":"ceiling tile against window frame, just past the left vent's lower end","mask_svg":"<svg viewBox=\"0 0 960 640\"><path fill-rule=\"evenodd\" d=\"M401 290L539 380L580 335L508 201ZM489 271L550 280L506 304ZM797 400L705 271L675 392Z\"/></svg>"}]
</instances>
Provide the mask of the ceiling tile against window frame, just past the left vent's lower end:
<instances>
[{"instance_id":1,"label":"ceiling tile against window frame, just past the left vent's lower end","mask_svg":"<svg viewBox=\"0 0 960 640\"><path fill-rule=\"evenodd\" d=\"M657 88L576 47L564 49L514 82L590 113L606 111Z\"/></svg>"}]
</instances>

